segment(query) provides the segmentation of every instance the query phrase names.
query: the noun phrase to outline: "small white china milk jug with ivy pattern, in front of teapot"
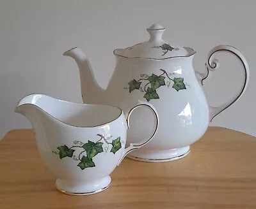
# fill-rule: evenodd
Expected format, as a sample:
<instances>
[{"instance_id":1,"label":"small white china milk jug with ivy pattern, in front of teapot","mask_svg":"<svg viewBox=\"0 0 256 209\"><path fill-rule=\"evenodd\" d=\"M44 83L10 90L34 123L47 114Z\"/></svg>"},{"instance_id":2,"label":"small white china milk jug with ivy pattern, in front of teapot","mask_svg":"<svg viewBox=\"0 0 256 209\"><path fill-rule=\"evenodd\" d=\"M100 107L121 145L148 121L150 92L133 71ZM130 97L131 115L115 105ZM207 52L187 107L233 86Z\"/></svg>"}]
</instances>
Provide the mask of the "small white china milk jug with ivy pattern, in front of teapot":
<instances>
[{"instance_id":1,"label":"small white china milk jug with ivy pattern, in front of teapot","mask_svg":"<svg viewBox=\"0 0 256 209\"><path fill-rule=\"evenodd\" d=\"M154 113L156 126L152 136L125 148L130 116L140 107ZM15 112L33 126L40 156L57 177L56 188L73 195L107 189L109 175L125 155L152 140L158 127L154 107L140 101L127 112L127 120L115 106L71 103L43 94L23 97Z\"/></svg>"}]
</instances>

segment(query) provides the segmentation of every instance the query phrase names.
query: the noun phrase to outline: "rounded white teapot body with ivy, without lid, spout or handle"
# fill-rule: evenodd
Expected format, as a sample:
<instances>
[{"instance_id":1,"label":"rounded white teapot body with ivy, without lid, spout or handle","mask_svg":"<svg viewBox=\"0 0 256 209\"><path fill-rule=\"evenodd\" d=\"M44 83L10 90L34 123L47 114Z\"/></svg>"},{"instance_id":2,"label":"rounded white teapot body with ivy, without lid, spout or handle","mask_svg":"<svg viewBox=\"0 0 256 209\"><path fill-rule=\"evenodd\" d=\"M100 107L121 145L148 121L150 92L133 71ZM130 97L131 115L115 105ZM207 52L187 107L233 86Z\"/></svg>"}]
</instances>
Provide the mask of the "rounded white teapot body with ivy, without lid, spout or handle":
<instances>
[{"instance_id":1,"label":"rounded white teapot body with ivy, without lid, spout or handle","mask_svg":"<svg viewBox=\"0 0 256 209\"><path fill-rule=\"evenodd\" d=\"M128 157L141 161L168 161L189 152L189 145L205 133L209 124L209 107L196 79L192 54L171 59L129 59L118 57L116 68L106 89L104 103L129 110L138 100L157 110L159 128L150 141ZM150 135L154 117L138 110L132 118L127 141L136 142Z\"/></svg>"}]
</instances>

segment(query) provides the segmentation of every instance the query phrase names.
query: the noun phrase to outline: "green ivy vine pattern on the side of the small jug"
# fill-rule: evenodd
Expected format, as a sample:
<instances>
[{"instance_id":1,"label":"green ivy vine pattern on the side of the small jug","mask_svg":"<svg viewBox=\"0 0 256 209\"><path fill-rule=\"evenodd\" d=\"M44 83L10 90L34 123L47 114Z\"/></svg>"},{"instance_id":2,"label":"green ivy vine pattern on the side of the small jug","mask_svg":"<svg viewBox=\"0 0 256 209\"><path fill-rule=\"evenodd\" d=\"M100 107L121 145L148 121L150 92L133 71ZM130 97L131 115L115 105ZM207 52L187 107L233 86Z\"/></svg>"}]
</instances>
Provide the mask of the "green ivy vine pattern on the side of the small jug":
<instances>
[{"instance_id":1,"label":"green ivy vine pattern on the side of the small jug","mask_svg":"<svg viewBox=\"0 0 256 209\"><path fill-rule=\"evenodd\" d=\"M99 136L100 139L96 142L90 140L88 140L87 143L83 143L82 141L74 141L74 145L72 147L62 145L60 147L57 147L58 152L52 152L58 154L60 159L63 159L65 157L72 157L74 161L79 161L77 166L79 166L79 168L81 168L82 170L85 168L95 167L96 165L93 162L93 157L102 152L108 152L109 145L111 145L110 152L116 154L116 152L122 147L122 143L124 144L124 141L121 141L120 137L109 142L112 136L110 136L109 138L105 138L102 134L97 134L97 136ZM106 146L103 148L103 145ZM79 154L75 155L75 152L78 152Z\"/></svg>"}]
</instances>

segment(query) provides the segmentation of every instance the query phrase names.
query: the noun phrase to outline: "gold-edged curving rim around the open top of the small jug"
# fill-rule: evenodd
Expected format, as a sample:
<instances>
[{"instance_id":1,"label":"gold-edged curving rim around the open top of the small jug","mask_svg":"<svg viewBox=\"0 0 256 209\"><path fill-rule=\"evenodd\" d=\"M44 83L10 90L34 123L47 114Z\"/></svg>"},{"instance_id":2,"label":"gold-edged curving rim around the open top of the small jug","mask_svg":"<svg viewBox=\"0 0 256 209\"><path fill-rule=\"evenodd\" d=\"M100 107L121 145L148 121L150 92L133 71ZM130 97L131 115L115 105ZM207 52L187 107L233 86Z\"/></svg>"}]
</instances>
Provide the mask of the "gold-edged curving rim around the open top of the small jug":
<instances>
[{"instance_id":1,"label":"gold-edged curving rim around the open top of the small jug","mask_svg":"<svg viewBox=\"0 0 256 209\"><path fill-rule=\"evenodd\" d=\"M51 115L50 113L46 112L44 109L40 108L40 106L37 106L33 103L24 103L22 105L19 105L20 101L22 101L22 99L24 99L25 97L29 97L29 96L44 96L44 97L49 97L51 99L56 99L58 101L61 101L63 103L68 103L68 104L72 104L72 105L78 105L78 106L108 106L108 107L111 107L111 108L115 108L115 109L118 109L120 111L120 113L118 114L118 116L115 116L114 119L112 120L109 120L108 122L104 122L104 123L100 123L99 125L95 125L95 126L75 126L75 125L72 125L72 124L68 124L67 122L64 122L56 117L54 117L53 115ZM22 97L22 99L19 100L19 102L17 103L17 105L15 106L15 110L16 108L18 108L19 106L24 106L24 105L33 105L33 106L36 106L36 108L42 110L42 112L46 113L47 115L50 115L53 119L57 120L58 122L61 122L67 126L70 126L70 127L78 127L78 128L93 128L93 127L100 127L100 126L105 126L107 124L110 124L111 122L114 122L115 120L119 119L123 114L124 114L124 111L122 110L122 108L119 108L118 106L114 106L114 105L102 105L102 104L96 104L96 103L77 103L77 102L72 102L72 101L67 101L67 100L63 100L63 99L58 99L58 98L55 98L55 97L51 97L51 96L48 96L46 94L40 94L40 93L31 93L31 94L27 94L26 96ZM16 112L16 111L15 111Z\"/></svg>"}]
</instances>

